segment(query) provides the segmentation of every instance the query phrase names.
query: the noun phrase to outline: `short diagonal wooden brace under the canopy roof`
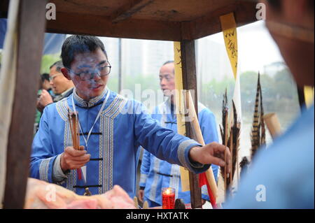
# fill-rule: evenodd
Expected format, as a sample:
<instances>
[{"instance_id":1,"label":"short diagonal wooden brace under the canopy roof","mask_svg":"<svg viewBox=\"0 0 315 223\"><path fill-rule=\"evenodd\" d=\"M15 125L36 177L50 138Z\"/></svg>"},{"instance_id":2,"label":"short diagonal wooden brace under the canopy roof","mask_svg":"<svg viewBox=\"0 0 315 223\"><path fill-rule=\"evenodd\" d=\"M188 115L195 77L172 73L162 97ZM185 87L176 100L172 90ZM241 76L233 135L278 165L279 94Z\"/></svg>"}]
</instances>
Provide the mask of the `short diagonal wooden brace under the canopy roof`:
<instances>
[{"instance_id":1,"label":"short diagonal wooden brace under the canopy roof","mask_svg":"<svg viewBox=\"0 0 315 223\"><path fill-rule=\"evenodd\" d=\"M122 20L127 20L132 17L135 13L139 12L142 8L153 3L154 0L132 0L129 1L124 6L118 8L116 12L111 16L113 23L120 22Z\"/></svg>"}]
</instances>

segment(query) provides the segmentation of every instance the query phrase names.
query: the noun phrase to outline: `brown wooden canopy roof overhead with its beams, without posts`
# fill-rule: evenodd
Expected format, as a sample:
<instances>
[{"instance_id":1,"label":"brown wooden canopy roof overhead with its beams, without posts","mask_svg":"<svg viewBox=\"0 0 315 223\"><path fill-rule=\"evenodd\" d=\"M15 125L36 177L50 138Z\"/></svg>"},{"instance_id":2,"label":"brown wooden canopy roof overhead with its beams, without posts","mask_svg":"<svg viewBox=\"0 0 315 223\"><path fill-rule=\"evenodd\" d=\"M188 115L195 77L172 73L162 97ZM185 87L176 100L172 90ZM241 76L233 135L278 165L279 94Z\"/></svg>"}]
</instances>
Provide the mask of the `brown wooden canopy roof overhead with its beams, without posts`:
<instances>
[{"instance_id":1,"label":"brown wooden canopy roof overhead with its beams, without posts","mask_svg":"<svg viewBox=\"0 0 315 223\"><path fill-rule=\"evenodd\" d=\"M0 16L8 13L0 3ZM254 1L241 0L50 0L56 20L46 31L161 41L194 40L221 31L219 17L231 12L237 25L255 21ZM29 3L28 6L31 6Z\"/></svg>"}]
</instances>

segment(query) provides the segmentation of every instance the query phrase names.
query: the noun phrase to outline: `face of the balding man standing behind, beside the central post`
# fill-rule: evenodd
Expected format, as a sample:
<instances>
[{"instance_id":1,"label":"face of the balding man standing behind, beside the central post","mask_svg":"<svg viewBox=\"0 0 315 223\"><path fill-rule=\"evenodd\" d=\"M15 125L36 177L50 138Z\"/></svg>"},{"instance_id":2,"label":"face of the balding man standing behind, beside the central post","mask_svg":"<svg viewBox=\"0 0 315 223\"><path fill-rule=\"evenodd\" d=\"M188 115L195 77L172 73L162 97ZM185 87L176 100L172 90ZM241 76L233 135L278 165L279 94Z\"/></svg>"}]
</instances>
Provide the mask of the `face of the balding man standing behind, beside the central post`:
<instances>
[{"instance_id":1,"label":"face of the balding man standing behind, beside the central post","mask_svg":"<svg viewBox=\"0 0 315 223\"><path fill-rule=\"evenodd\" d=\"M174 95L174 63L165 64L160 69L160 87L165 96Z\"/></svg>"}]
</instances>

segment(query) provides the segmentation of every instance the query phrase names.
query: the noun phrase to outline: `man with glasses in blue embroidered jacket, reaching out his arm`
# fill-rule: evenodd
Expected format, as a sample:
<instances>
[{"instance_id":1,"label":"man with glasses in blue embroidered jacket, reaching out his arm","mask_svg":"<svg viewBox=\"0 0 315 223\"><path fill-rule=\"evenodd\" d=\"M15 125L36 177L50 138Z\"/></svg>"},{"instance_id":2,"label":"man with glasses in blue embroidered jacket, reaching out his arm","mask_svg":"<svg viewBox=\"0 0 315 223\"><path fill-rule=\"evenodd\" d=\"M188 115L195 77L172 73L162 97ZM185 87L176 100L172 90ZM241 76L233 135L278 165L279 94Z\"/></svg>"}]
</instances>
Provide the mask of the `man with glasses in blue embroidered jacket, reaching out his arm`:
<instances>
[{"instance_id":1,"label":"man with glasses in blue embroidered jacket, reaching out his arm","mask_svg":"<svg viewBox=\"0 0 315 223\"><path fill-rule=\"evenodd\" d=\"M43 110L32 145L32 178L55 182L80 195L87 187L92 194L102 194L120 185L133 197L140 145L195 173L206 171L210 164L227 165L230 170L230 163L223 161L225 152L230 157L228 148L218 143L201 147L160 127L141 103L106 87L111 64L99 38L66 38L62 62L62 73L75 88L66 99ZM68 111L78 112L81 150L73 149ZM81 180L77 168L82 170Z\"/></svg>"}]
</instances>

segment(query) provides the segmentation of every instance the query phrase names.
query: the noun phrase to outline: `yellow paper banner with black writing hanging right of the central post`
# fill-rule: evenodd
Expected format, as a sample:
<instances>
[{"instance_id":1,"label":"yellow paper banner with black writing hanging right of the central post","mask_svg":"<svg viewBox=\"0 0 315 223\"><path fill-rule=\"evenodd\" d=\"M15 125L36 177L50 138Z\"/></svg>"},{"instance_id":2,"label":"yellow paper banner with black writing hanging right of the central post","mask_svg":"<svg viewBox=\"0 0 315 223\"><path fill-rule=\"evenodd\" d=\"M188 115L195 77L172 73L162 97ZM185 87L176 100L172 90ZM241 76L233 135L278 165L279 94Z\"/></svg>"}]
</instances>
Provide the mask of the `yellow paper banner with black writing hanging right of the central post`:
<instances>
[{"instance_id":1,"label":"yellow paper banner with black writing hanging right of the central post","mask_svg":"<svg viewBox=\"0 0 315 223\"><path fill-rule=\"evenodd\" d=\"M237 79L237 24L233 13L220 16L225 48L232 66L235 80Z\"/></svg>"}]
</instances>

